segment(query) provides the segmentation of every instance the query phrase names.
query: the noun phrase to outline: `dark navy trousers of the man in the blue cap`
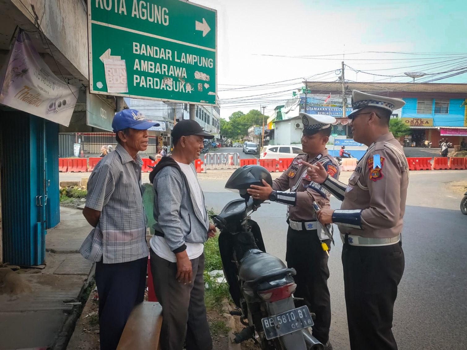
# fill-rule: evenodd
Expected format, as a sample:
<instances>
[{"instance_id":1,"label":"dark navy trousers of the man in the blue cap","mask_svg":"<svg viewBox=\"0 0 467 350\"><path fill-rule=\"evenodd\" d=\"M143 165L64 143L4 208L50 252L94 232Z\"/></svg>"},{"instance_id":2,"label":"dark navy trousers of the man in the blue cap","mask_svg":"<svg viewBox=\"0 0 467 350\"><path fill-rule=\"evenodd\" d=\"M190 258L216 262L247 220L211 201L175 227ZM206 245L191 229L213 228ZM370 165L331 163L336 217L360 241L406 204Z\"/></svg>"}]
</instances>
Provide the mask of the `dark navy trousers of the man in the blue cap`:
<instances>
[{"instance_id":1,"label":"dark navy trousers of the man in the blue cap","mask_svg":"<svg viewBox=\"0 0 467 350\"><path fill-rule=\"evenodd\" d=\"M147 267L148 258L118 264L96 263L101 350L117 349L131 310L144 300Z\"/></svg>"}]
</instances>

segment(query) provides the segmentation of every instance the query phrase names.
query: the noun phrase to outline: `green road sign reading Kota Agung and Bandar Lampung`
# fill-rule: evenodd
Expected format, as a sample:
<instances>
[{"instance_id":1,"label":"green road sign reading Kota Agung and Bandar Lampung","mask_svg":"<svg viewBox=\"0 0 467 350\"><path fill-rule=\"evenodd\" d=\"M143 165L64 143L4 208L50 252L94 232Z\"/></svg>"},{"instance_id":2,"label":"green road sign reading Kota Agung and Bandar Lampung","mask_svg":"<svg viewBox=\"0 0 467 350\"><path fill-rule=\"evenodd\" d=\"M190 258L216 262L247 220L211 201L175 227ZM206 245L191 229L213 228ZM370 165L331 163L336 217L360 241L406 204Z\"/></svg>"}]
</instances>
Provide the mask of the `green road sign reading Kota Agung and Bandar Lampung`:
<instances>
[{"instance_id":1,"label":"green road sign reading Kota Agung and Bandar Lampung","mask_svg":"<svg viewBox=\"0 0 467 350\"><path fill-rule=\"evenodd\" d=\"M215 105L217 12L183 0L88 0L90 91Z\"/></svg>"}]
</instances>

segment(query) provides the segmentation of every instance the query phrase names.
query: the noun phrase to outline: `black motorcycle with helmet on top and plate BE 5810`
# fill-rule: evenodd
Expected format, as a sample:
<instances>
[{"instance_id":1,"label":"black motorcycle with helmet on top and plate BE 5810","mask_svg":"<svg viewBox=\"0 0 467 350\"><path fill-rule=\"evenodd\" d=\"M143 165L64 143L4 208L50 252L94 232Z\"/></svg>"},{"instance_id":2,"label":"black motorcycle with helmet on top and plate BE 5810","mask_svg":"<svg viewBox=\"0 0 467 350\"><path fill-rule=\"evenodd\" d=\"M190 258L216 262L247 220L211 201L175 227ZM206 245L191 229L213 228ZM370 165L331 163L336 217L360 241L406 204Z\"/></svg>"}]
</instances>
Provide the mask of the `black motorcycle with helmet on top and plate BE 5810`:
<instances>
[{"instance_id":1,"label":"black motorcycle with helmet on top and plate BE 5810","mask_svg":"<svg viewBox=\"0 0 467 350\"><path fill-rule=\"evenodd\" d=\"M272 184L269 171L261 166L235 170L226 189L238 191L242 198L227 203L212 217L220 231L224 275L237 307L230 313L240 316L246 326L234 341L253 339L263 350L323 350L324 345L308 330L315 315L306 306L295 308L295 269L266 252L260 227L249 217L263 201L253 199L246 190L262 185L262 179Z\"/></svg>"}]
</instances>

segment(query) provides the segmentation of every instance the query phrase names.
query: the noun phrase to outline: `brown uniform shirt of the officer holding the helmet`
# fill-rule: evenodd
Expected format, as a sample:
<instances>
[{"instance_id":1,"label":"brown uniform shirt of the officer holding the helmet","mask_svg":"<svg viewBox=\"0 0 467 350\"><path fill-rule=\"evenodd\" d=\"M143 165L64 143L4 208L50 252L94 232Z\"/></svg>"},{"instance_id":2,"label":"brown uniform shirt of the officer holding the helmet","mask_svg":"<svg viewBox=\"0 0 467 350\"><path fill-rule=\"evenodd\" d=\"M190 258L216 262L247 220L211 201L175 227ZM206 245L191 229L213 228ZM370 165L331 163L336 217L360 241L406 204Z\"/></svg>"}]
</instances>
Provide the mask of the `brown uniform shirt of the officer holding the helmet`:
<instances>
[{"instance_id":1,"label":"brown uniform shirt of the officer holding the helmet","mask_svg":"<svg viewBox=\"0 0 467 350\"><path fill-rule=\"evenodd\" d=\"M315 164L318 161L323 164L326 171L333 178L338 179L340 168L337 161L328 153L327 149L311 158L308 154L299 154L294 158L289 168L272 183L272 188L276 191L286 191L290 189L290 195L296 197L295 203L281 201L278 194L277 202L289 205L289 218L293 221L313 220L314 210L313 201L318 203L320 208L329 208L330 193L324 186L311 181L311 177L307 174L308 167L302 165L300 161L306 161L310 164ZM289 195L289 193L283 193Z\"/></svg>"}]
</instances>

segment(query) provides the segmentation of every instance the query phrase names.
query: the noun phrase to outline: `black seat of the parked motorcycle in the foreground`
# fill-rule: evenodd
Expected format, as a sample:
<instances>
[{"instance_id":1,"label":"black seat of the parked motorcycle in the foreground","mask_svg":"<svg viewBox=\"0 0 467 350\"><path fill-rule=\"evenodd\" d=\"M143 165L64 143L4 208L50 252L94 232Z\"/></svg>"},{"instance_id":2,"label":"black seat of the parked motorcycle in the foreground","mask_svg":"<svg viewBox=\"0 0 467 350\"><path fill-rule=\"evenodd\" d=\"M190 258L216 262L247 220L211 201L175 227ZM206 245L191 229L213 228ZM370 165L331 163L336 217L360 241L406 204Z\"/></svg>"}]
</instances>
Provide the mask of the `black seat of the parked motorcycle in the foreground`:
<instances>
[{"instance_id":1,"label":"black seat of the parked motorcycle in the foreground","mask_svg":"<svg viewBox=\"0 0 467 350\"><path fill-rule=\"evenodd\" d=\"M282 260L274 255L259 249L250 249L241 259L238 277L243 281L259 281L263 277L281 274L295 274L295 270L288 269Z\"/></svg>"}]
</instances>

